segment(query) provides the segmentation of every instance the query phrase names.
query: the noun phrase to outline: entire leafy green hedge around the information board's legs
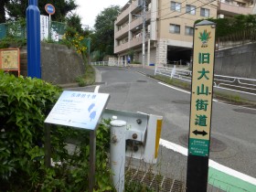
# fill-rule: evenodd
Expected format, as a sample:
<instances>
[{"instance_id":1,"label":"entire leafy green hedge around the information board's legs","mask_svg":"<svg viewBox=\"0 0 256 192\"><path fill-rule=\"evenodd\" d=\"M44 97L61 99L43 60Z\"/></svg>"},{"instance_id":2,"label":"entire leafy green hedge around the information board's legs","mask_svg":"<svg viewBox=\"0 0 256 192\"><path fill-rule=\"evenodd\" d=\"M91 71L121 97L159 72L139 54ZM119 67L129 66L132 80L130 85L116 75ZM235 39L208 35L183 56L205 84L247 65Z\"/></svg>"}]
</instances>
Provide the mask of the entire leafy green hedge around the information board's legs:
<instances>
[{"instance_id":1,"label":"entire leafy green hedge around the information board's legs","mask_svg":"<svg viewBox=\"0 0 256 192\"><path fill-rule=\"evenodd\" d=\"M88 191L89 131L52 127L51 157L60 164L44 165L44 120L61 90L3 71L0 79L0 191ZM105 120L96 132L97 191L112 189L108 124ZM67 148L68 140L80 143L73 152Z\"/></svg>"}]
</instances>

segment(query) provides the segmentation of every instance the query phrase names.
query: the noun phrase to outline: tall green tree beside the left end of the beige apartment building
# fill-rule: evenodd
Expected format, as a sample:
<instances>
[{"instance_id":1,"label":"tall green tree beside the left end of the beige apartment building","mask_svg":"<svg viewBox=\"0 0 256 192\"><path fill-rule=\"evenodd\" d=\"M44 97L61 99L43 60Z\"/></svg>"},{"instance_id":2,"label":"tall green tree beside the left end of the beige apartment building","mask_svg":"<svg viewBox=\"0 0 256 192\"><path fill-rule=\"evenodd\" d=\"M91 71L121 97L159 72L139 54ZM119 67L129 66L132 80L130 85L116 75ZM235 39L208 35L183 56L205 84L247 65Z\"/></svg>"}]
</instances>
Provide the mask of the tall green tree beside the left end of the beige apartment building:
<instances>
[{"instance_id":1,"label":"tall green tree beside the left end of the beige apartment building","mask_svg":"<svg viewBox=\"0 0 256 192\"><path fill-rule=\"evenodd\" d=\"M104 55L113 55L114 21L120 13L120 6L111 5L96 16L94 34L91 35L92 50Z\"/></svg>"}]
</instances>

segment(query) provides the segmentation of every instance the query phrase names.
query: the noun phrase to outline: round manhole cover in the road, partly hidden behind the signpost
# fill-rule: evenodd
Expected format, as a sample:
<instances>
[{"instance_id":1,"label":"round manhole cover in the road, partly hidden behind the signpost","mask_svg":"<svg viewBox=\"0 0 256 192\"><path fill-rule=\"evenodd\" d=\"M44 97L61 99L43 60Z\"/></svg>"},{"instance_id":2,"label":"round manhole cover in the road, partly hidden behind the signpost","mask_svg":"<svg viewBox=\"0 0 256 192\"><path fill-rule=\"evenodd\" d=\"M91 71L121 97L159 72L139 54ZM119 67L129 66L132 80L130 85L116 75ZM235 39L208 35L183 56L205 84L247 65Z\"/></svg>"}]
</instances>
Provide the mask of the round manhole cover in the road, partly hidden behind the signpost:
<instances>
[{"instance_id":1,"label":"round manhole cover in the road, partly hidden behind the signpost","mask_svg":"<svg viewBox=\"0 0 256 192\"><path fill-rule=\"evenodd\" d=\"M179 142L184 145L188 145L188 135L183 134L179 136L178 138ZM216 139L214 137L210 137L210 144L209 144L209 151L210 152L221 152L227 149L227 144L224 144L223 142L219 141L219 139Z\"/></svg>"}]
</instances>

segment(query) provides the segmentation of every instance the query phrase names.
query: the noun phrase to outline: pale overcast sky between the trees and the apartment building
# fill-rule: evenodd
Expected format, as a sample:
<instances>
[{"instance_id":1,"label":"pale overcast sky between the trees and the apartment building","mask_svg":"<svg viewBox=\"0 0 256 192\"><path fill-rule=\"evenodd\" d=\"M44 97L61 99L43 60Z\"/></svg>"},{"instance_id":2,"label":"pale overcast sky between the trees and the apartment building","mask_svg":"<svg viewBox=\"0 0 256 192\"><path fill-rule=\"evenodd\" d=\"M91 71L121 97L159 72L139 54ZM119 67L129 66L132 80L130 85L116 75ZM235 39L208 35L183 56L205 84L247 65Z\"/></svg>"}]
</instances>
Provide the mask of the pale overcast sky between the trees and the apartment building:
<instances>
[{"instance_id":1,"label":"pale overcast sky between the trees and the apartment building","mask_svg":"<svg viewBox=\"0 0 256 192\"><path fill-rule=\"evenodd\" d=\"M110 5L120 5L122 7L127 2L128 0L76 0L77 5L79 5L76 13L81 17L82 25L88 25L92 28L96 16L105 8L108 8Z\"/></svg>"}]
</instances>

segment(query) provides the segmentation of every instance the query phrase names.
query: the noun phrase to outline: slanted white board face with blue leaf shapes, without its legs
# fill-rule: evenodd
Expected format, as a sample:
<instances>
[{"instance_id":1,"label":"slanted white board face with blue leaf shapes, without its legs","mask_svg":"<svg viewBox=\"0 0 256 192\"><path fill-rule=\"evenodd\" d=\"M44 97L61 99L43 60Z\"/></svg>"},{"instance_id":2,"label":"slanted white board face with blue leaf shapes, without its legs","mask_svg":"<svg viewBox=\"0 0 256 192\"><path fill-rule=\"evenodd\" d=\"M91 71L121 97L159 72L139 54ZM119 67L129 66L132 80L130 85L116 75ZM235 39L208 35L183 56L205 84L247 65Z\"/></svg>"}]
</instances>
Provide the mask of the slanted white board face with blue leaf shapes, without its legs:
<instances>
[{"instance_id":1,"label":"slanted white board face with blue leaf shapes, without its legs","mask_svg":"<svg viewBox=\"0 0 256 192\"><path fill-rule=\"evenodd\" d=\"M95 130L110 95L83 91L63 91L45 123Z\"/></svg>"}]
</instances>

